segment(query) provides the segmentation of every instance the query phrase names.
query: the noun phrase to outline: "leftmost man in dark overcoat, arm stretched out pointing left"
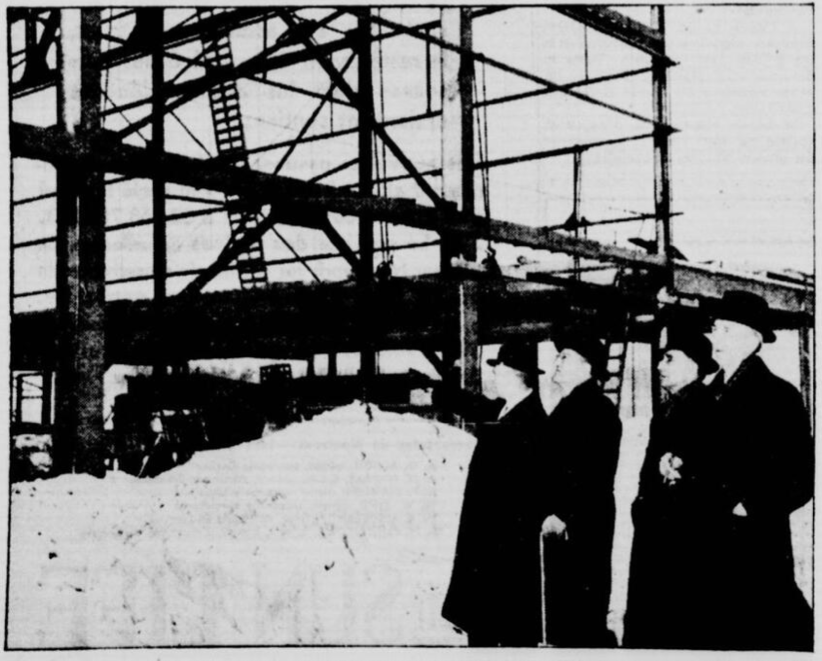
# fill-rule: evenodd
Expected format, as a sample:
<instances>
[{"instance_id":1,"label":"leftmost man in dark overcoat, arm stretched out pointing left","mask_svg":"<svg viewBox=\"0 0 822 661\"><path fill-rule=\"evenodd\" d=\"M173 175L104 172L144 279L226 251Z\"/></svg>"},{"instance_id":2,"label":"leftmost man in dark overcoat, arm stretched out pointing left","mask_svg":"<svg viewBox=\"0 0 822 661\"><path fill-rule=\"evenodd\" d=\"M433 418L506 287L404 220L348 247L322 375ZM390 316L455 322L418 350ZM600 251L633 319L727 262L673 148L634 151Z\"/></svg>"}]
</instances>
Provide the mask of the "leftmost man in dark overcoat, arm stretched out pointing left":
<instances>
[{"instance_id":1,"label":"leftmost man in dark overcoat, arm stretched out pointing left","mask_svg":"<svg viewBox=\"0 0 822 661\"><path fill-rule=\"evenodd\" d=\"M465 484L451 584L442 614L476 647L540 642L539 531L545 516L539 445L547 416L537 352L506 342L494 369L499 399L462 394L458 412L479 421Z\"/></svg>"}]
</instances>

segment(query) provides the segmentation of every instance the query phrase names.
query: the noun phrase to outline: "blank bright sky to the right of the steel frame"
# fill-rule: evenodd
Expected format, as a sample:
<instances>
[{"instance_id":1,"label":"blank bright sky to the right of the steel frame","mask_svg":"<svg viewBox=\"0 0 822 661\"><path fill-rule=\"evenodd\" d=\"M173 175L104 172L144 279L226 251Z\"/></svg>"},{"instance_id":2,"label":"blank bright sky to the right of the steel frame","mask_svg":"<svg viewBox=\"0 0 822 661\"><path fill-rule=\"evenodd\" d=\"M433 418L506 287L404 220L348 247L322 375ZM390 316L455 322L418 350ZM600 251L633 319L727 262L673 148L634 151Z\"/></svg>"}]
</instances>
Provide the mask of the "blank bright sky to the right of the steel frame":
<instances>
[{"instance_id":1,"label":"blank bright sky to the right of the steel frame","mask_svg":"<svg viewBox=\"0 0 822 661\"><path fill-rule=\"evenodd\" d=\"M675 241L813 268L813 8L670 7Z\"/></svg>"}]
</instances>

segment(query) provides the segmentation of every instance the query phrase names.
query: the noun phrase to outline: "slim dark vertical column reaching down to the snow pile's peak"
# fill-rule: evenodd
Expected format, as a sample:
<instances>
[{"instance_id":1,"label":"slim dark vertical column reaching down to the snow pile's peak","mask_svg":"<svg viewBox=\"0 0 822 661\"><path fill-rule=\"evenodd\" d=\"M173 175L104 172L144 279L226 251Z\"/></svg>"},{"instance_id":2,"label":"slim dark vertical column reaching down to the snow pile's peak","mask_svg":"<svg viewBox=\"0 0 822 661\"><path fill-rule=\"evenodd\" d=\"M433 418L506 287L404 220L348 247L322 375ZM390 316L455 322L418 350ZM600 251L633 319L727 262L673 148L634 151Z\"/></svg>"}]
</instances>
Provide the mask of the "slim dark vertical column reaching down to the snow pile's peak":
<instances>
[{"instance_id":1,"label":"slim dark vertical column reaching down to the snow pile's peak","mask_svg":"<svg viewBox=\"0 0 822 661\"><path fill-rule=\"evenodd\" d=\"M374 114L374 87L372 81L371 58L371 10L363 8L357 18L357 80L359 102L359 181L360 193L371 195L374 189L373 132L369 117ZM362 394L370 399L369 392L377 371L374 351L373 288L374 288L374 217L369 213L360 215L359 225L360 272L357 281L360 288L360 378Z\"/></svg>"}]
</instances>

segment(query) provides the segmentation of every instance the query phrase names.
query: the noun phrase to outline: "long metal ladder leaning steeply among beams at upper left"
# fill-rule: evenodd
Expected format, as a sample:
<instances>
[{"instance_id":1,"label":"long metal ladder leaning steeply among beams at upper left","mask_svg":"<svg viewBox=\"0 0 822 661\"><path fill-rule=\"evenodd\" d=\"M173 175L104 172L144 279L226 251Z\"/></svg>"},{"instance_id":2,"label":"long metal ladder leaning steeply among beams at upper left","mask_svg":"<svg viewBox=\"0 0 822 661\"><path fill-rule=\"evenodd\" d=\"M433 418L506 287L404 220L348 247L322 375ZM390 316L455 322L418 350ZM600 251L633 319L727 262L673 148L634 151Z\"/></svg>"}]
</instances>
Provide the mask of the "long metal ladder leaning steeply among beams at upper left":
<instances>
[{"instance_id":1,"label":"long metal ladder leaning steeply among beams at upper left","mask_svg":"<svg viewBox=\"0 0 822 661\"><path fill-rule=\"evenodd\" d=\"M205 21L222 11L224 10L218 8L197 9L197 20ZM228 31L211 32L203 35L201 41L203 59L209 73L224 76L225 72L234 70ZM234 167L248 169L250 166L236 77L223 77L220 82L212 85L208 90L208 100L217 153L221 160ZM259 224L259 210L247 208L240 196L226 194L225 201L232 240L241 238ZM237 257L236 266L242 289L261 289L268 285L261 240L255 241Z\"/></svg>"}]
</instances>

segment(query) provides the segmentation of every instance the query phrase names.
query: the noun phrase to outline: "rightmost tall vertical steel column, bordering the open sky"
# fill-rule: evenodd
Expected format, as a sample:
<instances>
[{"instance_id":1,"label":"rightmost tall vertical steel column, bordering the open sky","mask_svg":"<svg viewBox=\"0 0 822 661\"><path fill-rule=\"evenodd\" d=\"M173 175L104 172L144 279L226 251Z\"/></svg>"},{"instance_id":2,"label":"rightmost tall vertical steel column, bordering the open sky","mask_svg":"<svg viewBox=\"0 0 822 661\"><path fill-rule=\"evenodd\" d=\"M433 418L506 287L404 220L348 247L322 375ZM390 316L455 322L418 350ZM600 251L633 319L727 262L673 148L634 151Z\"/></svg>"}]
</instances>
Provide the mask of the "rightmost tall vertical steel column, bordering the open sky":
<instances>
[{"instance_id":1,"label":"rightmost tall vertical steel column, bordering the open sky","mask_svg":"<svg viewBox=\"0 0 822 661\"><path fill-rule=\"evenodd\" d=\"M652 64L654 128L654 206L656 210L656 252L668 256L671 233L671 133L668 129L668 68L664 58L665 7L651 7L651 25L663 38L663 56Z\"/></svg>"}]
</instances>

